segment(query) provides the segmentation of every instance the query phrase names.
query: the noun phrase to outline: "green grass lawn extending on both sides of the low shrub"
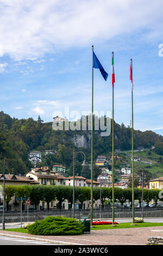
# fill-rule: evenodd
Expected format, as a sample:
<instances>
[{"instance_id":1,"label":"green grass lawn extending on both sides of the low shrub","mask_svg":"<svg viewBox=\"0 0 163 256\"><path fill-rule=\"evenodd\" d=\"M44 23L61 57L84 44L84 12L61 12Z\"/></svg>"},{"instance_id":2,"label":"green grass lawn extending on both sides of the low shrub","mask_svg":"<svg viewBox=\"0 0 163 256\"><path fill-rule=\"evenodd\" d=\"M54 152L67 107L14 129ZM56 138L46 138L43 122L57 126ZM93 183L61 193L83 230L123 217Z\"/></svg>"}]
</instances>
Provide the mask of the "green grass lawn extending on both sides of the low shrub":
<instances>
[{"instance_id":1,"label":"green grass lawn extending on both sides of the low shrub","mask_svg":"<svg viewBox=\"0 0 163 256\"><path fill-rule=\"evenodd\" d=\"M163 227L163 223L143 222L143 223L136 223L136 225L131 225L131 222L129 222L129 223L117 224L116 227L112 227L112 225L95 225L95 228L91 228L91 230L117 229L117 228L143 228L143 227L158 227L158 226ZM24 229L24 228L9 228L5 230L29 234L28 229Z\"/></svg>"}]
</instances>

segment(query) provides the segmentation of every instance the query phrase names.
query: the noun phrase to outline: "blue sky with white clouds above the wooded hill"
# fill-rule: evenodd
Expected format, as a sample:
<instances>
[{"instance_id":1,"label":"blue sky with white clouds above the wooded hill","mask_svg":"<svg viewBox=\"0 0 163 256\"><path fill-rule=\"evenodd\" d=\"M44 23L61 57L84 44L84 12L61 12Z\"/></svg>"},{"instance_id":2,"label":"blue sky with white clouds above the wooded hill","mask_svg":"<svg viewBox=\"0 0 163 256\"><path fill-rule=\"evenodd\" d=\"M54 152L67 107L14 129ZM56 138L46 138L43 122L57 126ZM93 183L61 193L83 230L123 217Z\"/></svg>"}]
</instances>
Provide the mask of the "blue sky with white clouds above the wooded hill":
<instances>
[{"instance_id":1,"label":"blue sky with white clouds above the wooded hill","mask_svg":"<svg viewBox=\"0 0 163 256\"><path fill-rule=\"evenodd\" d=\"M92 45L108 80L94 69L94 110L163 135L163 17L160 0L0 0L0 109L44 122L91 113ZM78 113L77 113L78 112ZM111 114L110 114L111 117Z\"/></svg>"}]
</instances>

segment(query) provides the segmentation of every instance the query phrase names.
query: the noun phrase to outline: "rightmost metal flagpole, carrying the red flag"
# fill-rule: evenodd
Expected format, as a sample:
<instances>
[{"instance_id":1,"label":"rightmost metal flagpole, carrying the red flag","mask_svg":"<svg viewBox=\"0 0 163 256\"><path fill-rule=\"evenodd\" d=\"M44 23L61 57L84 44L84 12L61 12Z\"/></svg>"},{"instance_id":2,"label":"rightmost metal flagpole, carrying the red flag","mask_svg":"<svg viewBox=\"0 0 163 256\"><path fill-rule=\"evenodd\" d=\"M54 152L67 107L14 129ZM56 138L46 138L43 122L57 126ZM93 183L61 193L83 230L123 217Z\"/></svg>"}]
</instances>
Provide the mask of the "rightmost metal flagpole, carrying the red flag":
<instances>
[{"instance_id":1,"label":"rightmost metal flagpole, carrying the red flag","mask_svg":"<svg viewBox=\"0 0 163 256\"><path fill-rule=\"evenodd\" d=\"M133 83L133 59L131 59L131 75ZM132 95L132 206L133 206L133 224L134 224L134 118L133 118L133 84L131 84Z\"/></svg>"}]
</instances>

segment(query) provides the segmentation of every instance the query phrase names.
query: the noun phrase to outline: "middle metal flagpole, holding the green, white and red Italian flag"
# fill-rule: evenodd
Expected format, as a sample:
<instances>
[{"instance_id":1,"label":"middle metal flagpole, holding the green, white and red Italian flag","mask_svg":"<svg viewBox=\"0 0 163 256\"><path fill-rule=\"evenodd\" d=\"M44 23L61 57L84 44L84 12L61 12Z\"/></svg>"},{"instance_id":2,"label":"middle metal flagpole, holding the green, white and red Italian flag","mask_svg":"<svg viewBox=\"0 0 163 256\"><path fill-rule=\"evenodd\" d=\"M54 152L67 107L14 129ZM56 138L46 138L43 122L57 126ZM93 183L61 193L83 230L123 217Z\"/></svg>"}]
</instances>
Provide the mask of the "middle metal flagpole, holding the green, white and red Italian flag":
<instances>
[{"instance_id":1,"label":"middle metal flagpole, holding the green, white and red Italian flag","mask_svg":"<svg viewBox=\"0 0 163 256\"><path fill-rule=\"evenodd\" d=\"M114 52L112 52L114 62ZM112 225L114 225L114 85L112 85Z\"/></svg>"}]
</instances>

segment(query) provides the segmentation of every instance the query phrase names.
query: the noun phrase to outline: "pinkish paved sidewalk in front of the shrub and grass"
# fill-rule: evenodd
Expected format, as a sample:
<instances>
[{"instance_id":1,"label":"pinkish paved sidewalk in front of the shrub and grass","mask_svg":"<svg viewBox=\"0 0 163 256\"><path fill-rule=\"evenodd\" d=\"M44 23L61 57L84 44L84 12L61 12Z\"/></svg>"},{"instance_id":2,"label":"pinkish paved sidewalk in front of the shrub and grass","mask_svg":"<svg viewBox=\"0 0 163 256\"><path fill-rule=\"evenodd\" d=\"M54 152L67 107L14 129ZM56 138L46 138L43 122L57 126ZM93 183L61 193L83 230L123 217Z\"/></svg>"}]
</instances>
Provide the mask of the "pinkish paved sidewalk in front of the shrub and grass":
<instances>
[{"instance_id":1,"label":"pinkish paved sidewalk in front of the shrub and grass","mask_svg":"<svg viewBox=\"0 0 163 256\"><path fill-rule=\"evenodd\" d=\"M5 230L0 230L0 235L24 237L24 239L41 239L41 241L50 241L58 245L147 245L149 236L163 237L163 226L91 230L90 234L76 236L36 236Z\"/></svg>"}]
</instances>

